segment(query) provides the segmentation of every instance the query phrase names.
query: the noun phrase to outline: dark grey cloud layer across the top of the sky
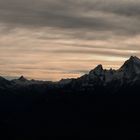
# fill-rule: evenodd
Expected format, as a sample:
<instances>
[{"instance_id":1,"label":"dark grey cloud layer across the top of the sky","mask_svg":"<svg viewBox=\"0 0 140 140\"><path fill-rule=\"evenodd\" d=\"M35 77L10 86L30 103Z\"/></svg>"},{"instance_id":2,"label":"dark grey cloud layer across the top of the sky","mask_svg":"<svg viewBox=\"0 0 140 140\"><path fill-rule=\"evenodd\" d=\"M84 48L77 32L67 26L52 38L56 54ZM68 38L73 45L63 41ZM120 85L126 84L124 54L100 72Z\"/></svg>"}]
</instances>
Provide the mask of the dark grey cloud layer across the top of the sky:
<instances>
[{"instance_id":1,"label":"dark grey cloud layer across the top of the sky","mask_svg":"<svg viewBox=\"0 0 140 140\"><path fill-rule=\"evenodd\" d=\"M137 0L0 0L0 22L12 27L138 34L139 18L135 17L140 14L139 6Z\"/></svg>"}]
</instances>

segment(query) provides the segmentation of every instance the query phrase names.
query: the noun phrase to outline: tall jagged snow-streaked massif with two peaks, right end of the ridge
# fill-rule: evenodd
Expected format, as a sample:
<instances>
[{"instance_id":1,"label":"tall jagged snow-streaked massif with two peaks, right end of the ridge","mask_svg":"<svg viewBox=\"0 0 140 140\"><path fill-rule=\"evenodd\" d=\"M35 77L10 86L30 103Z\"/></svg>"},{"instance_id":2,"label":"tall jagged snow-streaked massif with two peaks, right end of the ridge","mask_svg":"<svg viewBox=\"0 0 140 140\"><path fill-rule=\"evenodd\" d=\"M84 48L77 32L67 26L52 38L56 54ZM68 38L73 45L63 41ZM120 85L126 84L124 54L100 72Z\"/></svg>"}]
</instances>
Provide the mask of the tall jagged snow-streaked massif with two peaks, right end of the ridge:
<instances>
[{"instance_id":1,"label":"tall jagged snow-streaked massif with two peaks, right end of the ridge","mask_svg":"<svg viewBox=\"0 0 140 140\"><path fill-rule=\"evenodd\" d=\"M84 77L83 82L94 81L96 84L102 82L103 85L116 80L120 85L138 81L140 80L140 59L136 56L131 56L118 70L106 70L103 69L102 65L98 65Z\"/></svg>"}]
</instances>

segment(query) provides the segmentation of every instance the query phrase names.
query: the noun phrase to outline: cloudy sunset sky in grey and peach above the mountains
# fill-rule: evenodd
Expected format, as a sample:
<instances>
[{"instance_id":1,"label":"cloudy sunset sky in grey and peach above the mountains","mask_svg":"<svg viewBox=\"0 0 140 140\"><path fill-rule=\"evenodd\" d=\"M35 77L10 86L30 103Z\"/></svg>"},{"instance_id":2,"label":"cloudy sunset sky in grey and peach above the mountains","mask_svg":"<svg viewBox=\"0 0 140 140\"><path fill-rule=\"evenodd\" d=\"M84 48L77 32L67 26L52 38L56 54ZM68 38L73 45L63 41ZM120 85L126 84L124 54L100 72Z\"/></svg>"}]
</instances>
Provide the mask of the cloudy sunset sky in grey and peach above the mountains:
<instances>
[{"instance_id":1,"label":"cloudy sunset sky in grey and peach above the mountains","mask_svg":"<svg viewBox=\"0 0 140 140\"><path fill-rule=\"evenodd\" d=\"M140 57L140 0L0 0L0 75L57 81Z\"/></svg>"}]
</instances>

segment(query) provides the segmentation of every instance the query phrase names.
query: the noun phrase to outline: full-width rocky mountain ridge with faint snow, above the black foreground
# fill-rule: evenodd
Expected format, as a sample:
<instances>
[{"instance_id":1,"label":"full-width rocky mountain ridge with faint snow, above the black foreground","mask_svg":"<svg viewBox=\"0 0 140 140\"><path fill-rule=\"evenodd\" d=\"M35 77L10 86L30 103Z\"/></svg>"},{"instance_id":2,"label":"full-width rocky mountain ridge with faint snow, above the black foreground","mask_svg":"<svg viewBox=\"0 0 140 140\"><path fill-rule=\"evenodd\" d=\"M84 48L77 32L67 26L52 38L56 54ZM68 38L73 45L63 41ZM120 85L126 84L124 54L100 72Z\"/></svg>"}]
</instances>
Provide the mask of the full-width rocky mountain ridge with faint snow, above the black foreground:
<instances>
[{"instance_id":1,"label":"full-width rocky mountain ridge with faint snow, above the black foreground","mask_svg":"<svg viewBox=\"0 0 140 140\"><path fill-rule=\"evenodd\" d=\"M123 85L140 84L140 59L136 56L131 56L119 69L103 69L102 65L98 65L91 70L88 74L85 74L79 78L62 79L58 82L50 81L37 81L28 80L24 76L19 79L6 80L0 77L0 88L22 87L30 85L46 85L52 87L78 87L81 88L96 88L96 86L107 87L114 85L115 87L121 87Z\"/></svg>"}]
</instances>

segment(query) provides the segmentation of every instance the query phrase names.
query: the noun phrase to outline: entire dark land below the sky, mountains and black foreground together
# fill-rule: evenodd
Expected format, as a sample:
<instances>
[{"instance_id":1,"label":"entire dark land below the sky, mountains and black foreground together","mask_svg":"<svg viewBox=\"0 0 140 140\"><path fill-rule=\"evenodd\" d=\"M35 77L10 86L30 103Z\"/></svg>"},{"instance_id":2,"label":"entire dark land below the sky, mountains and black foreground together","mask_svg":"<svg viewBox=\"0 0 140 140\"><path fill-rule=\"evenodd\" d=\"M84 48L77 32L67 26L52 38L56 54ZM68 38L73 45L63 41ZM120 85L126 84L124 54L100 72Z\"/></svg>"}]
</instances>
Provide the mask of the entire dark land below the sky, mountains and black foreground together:
<instances>
[{"instance_id":1,"label":"entire dark land below the sky, mountains and black foreground together","mask_svg":"<svg viewBox=\"0 0 140 140\"><path fill-rule=\"evenodd\" d=\"M0 77L0 128L9 139L140 136L140 59L118 70L98 65L59 82Z\"/></svg>"}]
</instances>

